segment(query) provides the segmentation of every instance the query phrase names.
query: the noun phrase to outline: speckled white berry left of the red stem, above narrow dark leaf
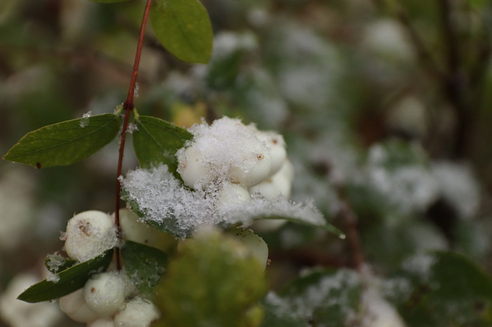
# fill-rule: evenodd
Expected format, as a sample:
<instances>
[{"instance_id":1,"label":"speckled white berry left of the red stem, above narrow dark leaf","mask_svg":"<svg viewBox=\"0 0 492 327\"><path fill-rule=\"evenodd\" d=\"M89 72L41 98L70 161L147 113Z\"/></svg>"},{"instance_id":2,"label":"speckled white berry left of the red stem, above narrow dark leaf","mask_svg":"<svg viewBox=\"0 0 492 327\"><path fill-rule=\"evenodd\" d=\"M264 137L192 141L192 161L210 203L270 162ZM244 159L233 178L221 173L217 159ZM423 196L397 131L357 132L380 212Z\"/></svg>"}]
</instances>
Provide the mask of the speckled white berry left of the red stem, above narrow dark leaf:
<instances>
[{"instance_id":1,"label":"speckled white berry left of the red stem, above narrow dark leaf","mask_svg":"<svg viewBox=\"0 0 492 327\"><path fill-rule=\"evenodd\" d=\"M73 260L95 258L116 243L113 220L102 211L84 211L68 220L65 251Z\"/></svg>"}]
</instances>

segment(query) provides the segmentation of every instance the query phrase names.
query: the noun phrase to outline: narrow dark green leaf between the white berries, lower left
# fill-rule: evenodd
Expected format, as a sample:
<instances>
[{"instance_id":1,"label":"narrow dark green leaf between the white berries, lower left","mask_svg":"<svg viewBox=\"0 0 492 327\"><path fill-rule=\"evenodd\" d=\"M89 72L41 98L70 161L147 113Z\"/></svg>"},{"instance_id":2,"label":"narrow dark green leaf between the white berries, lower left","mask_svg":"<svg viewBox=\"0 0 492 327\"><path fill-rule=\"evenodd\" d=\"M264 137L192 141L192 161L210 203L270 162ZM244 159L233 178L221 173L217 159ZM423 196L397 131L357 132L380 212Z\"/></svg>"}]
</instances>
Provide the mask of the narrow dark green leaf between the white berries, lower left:
<instances>
[{"instance_id":1,"label":"narrow dark green leaf between the white berries, lower left","mask_svg":"<svg viewBox=\"0 0 492 327\"><path fill-rule=\"evenodd\" d=\"M112 258L112 249L106 251L91 260L84 261L78 265L58 273L58 281L40 281L27 288L18 296L18 300L29 303L43 302L61 298L82 288L90 276L97 272L103 272L108 268Z\"/></svg>"}]
</instances>

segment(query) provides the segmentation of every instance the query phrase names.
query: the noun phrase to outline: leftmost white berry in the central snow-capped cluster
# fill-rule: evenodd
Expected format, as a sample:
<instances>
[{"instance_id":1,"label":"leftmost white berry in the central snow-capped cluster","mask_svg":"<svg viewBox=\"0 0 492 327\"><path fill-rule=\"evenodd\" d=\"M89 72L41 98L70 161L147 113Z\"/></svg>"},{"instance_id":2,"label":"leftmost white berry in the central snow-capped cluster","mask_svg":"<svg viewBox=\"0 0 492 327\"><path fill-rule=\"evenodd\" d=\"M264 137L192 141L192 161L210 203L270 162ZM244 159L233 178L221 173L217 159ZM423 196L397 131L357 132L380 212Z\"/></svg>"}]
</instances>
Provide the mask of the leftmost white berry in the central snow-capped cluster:
<instances>
[{"instance_id":1,"label":"leftmost white berry in the central snow-capped cluster","mask_svg":"<svg viewBox=\"0 0 492 327\"><path fill-rule=\"evenodd\" d=\"M202 152L195 147L187 147L178 154L178 173L184 184L194 187L197 182L208 182L212 175L210 173L209 163L203 158Z\"/></svg>"}]
</instances>

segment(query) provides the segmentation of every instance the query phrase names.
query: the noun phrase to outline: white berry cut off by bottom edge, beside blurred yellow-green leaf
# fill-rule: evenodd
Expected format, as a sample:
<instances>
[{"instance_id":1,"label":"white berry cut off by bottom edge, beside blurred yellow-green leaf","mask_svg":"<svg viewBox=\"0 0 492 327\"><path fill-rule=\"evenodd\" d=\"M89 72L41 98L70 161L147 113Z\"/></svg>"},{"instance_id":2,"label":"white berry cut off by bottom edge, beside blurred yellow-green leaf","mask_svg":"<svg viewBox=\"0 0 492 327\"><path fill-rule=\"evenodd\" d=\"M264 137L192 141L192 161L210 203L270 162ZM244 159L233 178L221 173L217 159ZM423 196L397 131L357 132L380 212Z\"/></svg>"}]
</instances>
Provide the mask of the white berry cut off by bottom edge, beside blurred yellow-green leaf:
<instances>
[{"instance_id":1,"label":"white berry cut off by bottom edge, beside blurred yellow-green leaf","mask_svg":"<svg viewBox=\"0 0 492 327\"><path fill-rule=\"evenodd\" d=\"M148 327L159 319L160 313L152 302L134 298L127 302L124 309L115 315L115 326Z\"/></svg>"}]
</instances>

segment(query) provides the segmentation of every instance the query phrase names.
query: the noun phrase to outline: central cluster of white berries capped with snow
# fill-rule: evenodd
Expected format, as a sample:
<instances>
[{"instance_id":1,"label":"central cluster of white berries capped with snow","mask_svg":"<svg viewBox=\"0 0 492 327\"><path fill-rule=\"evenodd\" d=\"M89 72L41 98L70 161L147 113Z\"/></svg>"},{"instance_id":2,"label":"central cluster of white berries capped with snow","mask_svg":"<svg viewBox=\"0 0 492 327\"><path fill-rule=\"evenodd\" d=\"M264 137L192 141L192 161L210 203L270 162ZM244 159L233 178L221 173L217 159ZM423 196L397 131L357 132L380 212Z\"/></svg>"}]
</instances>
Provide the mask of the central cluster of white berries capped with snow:
<instances>
[{"instance_id":1,"label":"central cluster of white berries capped with snow","mask_svg":"<svg viewBox=\"0 0 492 327\"><path fill-rule=\"evenodd\" d=\"M243 203L251 196L290 196L292 163L282 135L224 117L195 124L194 135L176 153L178 172L188 187L204 189L220 202Z\"/></svg>"}]
</instances>

